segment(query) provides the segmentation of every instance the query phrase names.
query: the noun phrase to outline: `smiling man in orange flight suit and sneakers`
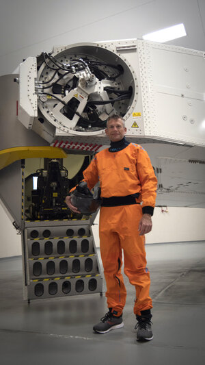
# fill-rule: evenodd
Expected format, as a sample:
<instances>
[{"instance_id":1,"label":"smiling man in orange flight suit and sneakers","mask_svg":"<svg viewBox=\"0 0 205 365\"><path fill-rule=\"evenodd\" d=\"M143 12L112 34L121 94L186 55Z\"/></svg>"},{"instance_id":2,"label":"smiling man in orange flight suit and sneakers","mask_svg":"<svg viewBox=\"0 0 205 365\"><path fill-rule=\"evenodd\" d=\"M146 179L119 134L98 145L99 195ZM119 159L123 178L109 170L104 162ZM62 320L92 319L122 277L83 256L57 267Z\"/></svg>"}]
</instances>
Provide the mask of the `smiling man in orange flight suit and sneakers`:
<instances>
[{"instance_id":1,"label":"smiling man in orange flight suit and sneakers","mask_svg":"<svg viewBox=\"0 0 205 365\"><path fill-rule=\"evenodd\" d=\"M107 284L109 312L94 326L106 333L123 327L122 310L126 288L121 273L122 249L124 273L136 290L134 314L137 340L152 340L149 295L150 274L146 267L144 235L152 229L157 180L148 153L139 144L125 138L126 127L119 115L110 116L105 130L111 147L96 154L83 172L88 188L100 181L100 253ZM70 210L79 212L66 197Z\"/></svg>"}]
</instances>

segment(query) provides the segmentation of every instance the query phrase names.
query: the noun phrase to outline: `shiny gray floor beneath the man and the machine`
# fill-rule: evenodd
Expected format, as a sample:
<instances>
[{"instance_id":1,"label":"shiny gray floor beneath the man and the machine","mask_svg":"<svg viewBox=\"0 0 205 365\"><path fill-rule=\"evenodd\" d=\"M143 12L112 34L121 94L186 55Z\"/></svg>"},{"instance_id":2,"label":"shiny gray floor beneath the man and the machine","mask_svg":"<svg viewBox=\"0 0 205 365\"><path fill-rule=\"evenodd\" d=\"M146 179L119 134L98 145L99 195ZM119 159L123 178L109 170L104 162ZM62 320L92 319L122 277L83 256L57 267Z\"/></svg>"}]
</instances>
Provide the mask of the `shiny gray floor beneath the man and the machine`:
<instances>
[{"instance_id":1,"label":"shiny gray floor beneath the man and the machine","mask_svg":"<svg viewBox=\"0 0 205 365\"><path fill-rule=\"evenodd\" d=\"M105 294L23 301L20 257L0 260L0 362L10 364L205 364L205 241L147 245L154 303L150 342L136 342L126 281L124 328L96 334Z\"/></svg>"}]
</instances>

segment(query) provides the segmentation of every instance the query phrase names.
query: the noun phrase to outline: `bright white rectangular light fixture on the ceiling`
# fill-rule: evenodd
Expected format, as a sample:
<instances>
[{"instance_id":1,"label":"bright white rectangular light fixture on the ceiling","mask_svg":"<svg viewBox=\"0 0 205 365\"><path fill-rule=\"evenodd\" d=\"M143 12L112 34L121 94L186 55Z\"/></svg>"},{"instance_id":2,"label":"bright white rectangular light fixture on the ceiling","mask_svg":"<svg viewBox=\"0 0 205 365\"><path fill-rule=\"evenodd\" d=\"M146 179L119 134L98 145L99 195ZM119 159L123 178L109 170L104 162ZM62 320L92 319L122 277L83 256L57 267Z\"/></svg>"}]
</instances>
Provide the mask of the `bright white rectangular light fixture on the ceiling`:
<instances>
[{"instance_id":1,"label":"bright white rectangular light fixture on the ceiling","mask_svg":"<svg viewBox=\"0 0 205 365\"><path fill-rule=\"evenodd\" d=\"M184 24L173 25L173 27L164 28L161 30L157 30L156 32L152 32L142 36L145 40L152 40L153 42L167 42L168 40L180 38L187 36L186 30L184 28Z\"/></svg>"}]
</instances>

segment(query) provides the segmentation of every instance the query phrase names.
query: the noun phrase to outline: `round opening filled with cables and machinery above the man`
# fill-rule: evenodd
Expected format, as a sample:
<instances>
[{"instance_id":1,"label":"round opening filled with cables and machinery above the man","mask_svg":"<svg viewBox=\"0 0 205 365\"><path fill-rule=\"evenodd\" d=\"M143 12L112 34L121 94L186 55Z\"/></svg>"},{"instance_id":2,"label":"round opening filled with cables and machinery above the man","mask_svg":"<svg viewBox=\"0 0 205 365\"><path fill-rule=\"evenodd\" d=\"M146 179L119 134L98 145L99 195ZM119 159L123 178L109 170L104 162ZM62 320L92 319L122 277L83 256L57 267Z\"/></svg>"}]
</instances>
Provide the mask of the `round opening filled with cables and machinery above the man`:
<instances>
[{"instance_id":1,"label":"round opening filled with cables and machinery above the man","mask_svg":"<svg viewBox=\"0 0 205 365\"><path fill-rule=\"evenodd\" d=\"M38 108L63 131L105 129L110 114L124 116L133 101L133 75L119 57L92 46L68 48L37 58Z\"/></svg>"}]
</instances>

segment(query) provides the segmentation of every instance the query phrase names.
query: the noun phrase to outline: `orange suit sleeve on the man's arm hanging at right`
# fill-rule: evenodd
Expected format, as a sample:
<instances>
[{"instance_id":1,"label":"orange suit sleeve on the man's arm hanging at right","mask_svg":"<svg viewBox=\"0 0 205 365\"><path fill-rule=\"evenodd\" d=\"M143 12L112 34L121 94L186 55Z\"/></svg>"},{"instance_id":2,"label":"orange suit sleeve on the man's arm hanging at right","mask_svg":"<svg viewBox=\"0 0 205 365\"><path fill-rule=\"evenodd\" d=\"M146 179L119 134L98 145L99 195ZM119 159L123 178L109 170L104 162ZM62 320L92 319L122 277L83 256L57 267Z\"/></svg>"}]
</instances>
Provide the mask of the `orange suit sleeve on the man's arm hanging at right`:
<instances>
[{"instance_id":1,"label":"orange suit sleeve on the man's arm hanging at right","mask_svg":"<svg viewBox=\"0 0 205 365\"><path fill-rule=\"evenodd\" d=\"M142 212L153 215L157 179L148 153L141 147L137 151L137 175L141 183Z\"/></svg>"}]
</instances>

